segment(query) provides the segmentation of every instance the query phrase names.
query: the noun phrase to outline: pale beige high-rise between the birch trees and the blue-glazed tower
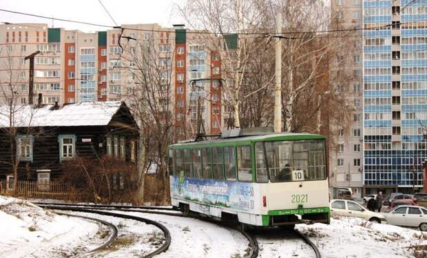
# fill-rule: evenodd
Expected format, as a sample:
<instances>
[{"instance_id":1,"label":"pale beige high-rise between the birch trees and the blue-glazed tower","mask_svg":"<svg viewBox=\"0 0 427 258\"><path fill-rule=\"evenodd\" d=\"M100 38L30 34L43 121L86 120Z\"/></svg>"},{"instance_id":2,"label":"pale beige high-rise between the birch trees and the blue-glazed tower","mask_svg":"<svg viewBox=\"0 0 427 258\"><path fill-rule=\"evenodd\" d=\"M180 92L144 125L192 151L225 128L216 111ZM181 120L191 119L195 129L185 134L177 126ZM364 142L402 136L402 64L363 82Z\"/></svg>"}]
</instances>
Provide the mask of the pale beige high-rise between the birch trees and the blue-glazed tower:
<instances>
[{"instance_id":1,"label":"pale beige high-rise between the birch trees and the blue-glazed tower","mask_svg":"<svg viewBox=\"0 0 427 258\"><path fill-rule=\"evenodd\" d=\"M361 0L332 0L331 21L333 29L362 28ZM337 90L346 95L351 110L350 125L331 125L337 131L334 142L336 148L330 153L330 184L335 187L349 187L355 196L362 196L363 189L363 122L362 122L362 31L355 30L342 34L342 45L337 48L333 62L337 72L345 69L346 77L341 81L331 81ZM337 76L333 76L337 78ZM350 113L350 112L349 112Z\"/></svg>"}]
</instances>

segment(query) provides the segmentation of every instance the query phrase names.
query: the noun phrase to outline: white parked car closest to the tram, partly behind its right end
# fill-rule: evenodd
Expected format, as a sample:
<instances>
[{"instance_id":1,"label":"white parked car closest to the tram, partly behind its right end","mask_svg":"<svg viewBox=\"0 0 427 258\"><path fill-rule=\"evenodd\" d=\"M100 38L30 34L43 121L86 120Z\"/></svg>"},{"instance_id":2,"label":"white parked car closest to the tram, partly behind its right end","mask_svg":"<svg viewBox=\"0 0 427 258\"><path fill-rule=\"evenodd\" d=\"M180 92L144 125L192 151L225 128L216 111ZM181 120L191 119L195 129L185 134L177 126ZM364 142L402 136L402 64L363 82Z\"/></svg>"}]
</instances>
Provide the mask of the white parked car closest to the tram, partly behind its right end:
<instances>
[{"instance_id":1,"label":"white parked car closest to the tram, partly behind its right end","mask_svg":"<svg viewBox=\"0 0 427 258\"><path fill-rule=\"evenodd\" d=\"M329 206L331 208L331 215L360 217L361 219L377 223L386 221L384 215L368 211L360 204L357 204L357 202L351 200L331 200Z\"/></svg>"}]
</instances>

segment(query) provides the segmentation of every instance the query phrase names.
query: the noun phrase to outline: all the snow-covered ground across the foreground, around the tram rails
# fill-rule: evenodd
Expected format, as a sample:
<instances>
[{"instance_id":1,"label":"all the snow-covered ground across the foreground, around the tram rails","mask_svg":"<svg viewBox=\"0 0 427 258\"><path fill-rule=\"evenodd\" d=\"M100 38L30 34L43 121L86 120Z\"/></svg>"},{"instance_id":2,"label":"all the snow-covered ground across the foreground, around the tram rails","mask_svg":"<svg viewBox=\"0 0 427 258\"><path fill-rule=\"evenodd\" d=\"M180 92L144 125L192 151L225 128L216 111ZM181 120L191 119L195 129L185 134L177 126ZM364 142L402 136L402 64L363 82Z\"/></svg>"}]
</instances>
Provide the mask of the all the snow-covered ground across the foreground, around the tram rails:
<instances>
[{"instance_id":1,"label":"all the snow-covered ground across the foreground, around the tram rails","mask_svg":"<svg viewBox=\"0 0 427 258\"><path fill-rule=\"evenodd\" d=\"M118 212L118 211L115 211ZM199 219L120 211L167 226L171 246L158 257L244 257L247 239L236 230ZM74 213L81 214L81 213ZM152 225L128 219L87 214L116 224L118 239L93 257L140 257L163 244L163 233ZM340 217L330 225L297 225L317 245L322 257L413 257L410 246L426 245L427 233L411 228ZM55 215L30 202L0 196L0 257L81 255L107 239L103 225ZM295 233L278 228L254 230L259 257L313 257Z\"/></svg>"}]
</instances>

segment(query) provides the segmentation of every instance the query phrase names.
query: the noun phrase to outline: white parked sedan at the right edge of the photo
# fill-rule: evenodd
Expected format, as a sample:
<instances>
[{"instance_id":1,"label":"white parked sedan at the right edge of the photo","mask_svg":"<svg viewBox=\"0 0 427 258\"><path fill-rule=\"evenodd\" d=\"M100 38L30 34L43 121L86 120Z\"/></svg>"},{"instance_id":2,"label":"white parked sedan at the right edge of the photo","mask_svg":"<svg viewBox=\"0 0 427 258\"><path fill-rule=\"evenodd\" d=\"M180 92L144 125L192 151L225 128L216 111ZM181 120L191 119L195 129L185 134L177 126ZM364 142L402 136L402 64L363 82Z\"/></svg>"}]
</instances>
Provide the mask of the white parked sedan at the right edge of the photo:
<instances>
[{"instance_id":1,"label":"white parked sedan at the right edge of the photo","mask_svg":"<svg viewBox=\"0 0 427 258\"><path fill-rule=\"evenodd\" d=\"M427 209L419 206L397 206L389 213L383 213L387 223L396 226L410 226L427 231Z\"/></svg>"}]
</instances>

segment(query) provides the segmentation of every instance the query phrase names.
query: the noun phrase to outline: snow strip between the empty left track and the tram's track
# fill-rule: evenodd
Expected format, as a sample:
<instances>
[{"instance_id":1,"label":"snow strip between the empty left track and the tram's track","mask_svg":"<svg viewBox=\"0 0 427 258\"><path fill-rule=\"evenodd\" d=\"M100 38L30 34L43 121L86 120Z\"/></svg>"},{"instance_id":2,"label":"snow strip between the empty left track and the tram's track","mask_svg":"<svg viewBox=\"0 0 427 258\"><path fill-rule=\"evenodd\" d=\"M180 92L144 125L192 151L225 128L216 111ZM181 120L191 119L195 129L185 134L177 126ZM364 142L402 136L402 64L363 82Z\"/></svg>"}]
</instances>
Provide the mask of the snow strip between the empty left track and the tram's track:
<instances>
[{"instance_id":1,"label":"snow strip between the empty left track and the tram's track","mask_svg":"<svg viewBox=\"0 0 427 258\"><path fill-rule=\"evenodd\" d=\"M165 225L171 233L167 252L157 257L244 257L249 241L238 231L187 217L149 213L126 213Z\"/></svg>"}]
</instances>

